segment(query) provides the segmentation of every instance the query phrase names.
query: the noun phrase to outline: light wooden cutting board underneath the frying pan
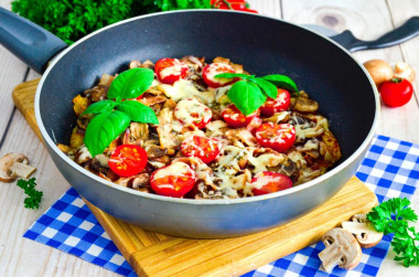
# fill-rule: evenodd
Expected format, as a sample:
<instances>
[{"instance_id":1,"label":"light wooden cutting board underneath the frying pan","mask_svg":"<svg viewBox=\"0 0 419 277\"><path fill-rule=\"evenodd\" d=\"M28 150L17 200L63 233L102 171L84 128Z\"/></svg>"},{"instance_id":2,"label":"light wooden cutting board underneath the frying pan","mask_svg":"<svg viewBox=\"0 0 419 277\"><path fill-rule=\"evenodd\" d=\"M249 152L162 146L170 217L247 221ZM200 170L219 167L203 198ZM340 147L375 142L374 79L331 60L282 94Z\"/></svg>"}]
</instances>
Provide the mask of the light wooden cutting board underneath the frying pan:
<instances>
[{"instance_id":1,"label":"light wooden cutting board underneath the frying pan","mask_svg":"<svg viewBox=\"0 0 419 277\"><path fill-rule=\"evenodd\" d=\"M42 140L33 110L37 83L20 84L12 95ZM144 231L84 201L139 276L239 276L320 241L342 221L378 203L375 194L353 177L326 203L280 227L237 238L191 239Z\"/></svg>"}]
</instances>

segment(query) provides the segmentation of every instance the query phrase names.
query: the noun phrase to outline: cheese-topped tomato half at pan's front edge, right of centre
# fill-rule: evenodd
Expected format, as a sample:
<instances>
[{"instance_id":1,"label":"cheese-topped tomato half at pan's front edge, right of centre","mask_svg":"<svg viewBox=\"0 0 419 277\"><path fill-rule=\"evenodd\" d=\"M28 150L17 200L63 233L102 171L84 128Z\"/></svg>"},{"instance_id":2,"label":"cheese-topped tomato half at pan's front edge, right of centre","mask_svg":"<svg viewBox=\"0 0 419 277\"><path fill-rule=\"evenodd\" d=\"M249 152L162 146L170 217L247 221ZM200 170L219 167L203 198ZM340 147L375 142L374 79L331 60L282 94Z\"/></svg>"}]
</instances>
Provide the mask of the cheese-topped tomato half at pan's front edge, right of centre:
<instances>
[{"instance_id":1,"label":"cheese-topped tomato half at pan's front edge, right of centre","mask_svg":"<svg viewBox=\"0 0 419 277\"><path fill-rule=\"evenodd\" d=\"M251 179L251 185L255 195L262 195L292 188L292 181L284 174L262 171Z\"/></svg>"}]
</instances>

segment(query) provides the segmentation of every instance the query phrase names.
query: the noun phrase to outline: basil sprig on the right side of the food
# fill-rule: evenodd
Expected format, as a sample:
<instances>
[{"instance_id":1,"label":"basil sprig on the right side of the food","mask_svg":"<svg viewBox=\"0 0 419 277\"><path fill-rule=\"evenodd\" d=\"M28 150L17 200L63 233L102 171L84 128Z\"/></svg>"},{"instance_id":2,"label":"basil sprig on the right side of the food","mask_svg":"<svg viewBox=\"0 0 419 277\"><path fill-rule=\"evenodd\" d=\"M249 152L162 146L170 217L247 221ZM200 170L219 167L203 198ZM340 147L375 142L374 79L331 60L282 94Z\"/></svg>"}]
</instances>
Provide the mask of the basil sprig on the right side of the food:
<instances>
[{"instance_id":1,"label":"basil sprig on the right side of the food","mask_svg":"<svg viewBox=\"0 0 419 277\"><path fill-rule=\"evenodd\" d=\"M227 96L245 116L257 110L268 97L277 98L277 87L298 93L296 83L280 74L256 77L243 73L222 73L215 78L241 78L233 84Z\"/></svg>"}]
</instances>

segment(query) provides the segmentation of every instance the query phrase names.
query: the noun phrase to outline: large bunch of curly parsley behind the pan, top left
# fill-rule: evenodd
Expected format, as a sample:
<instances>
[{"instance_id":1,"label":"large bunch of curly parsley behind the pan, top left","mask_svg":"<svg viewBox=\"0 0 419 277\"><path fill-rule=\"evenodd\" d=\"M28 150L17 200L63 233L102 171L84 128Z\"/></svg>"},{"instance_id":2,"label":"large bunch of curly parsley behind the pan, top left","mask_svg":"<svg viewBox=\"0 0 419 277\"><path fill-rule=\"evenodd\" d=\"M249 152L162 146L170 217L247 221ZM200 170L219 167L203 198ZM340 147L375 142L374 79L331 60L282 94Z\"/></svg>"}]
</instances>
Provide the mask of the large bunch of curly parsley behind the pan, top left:
<instances>
[{"instance_id":1,"label":"large bunch of curly parsley behind the pan, top left","mask_svg":"<svg viewBox=\"0 0 419 277\"><path fill-rule=\"evenodd\" d=\"M123 19L179 9L210 9L208 0L15 0L12 11L72 44Z\"/></svg>"}]
</instances>

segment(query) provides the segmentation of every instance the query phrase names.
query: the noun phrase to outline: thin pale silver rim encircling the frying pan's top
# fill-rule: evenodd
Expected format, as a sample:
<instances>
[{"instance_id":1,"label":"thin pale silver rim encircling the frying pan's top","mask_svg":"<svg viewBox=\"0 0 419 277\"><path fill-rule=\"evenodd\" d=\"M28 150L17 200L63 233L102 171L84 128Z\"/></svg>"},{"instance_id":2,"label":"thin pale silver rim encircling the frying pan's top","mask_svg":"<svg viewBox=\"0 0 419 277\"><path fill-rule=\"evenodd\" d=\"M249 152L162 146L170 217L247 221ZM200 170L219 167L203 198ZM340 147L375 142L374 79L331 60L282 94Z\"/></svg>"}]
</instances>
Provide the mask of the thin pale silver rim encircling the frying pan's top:
<instances>
[{"instance_id":1,"label":"thin pale silver rim encircling the frying pan's top","mask_svg":"<svg viewBox=\"0 0 419 277\"><path fill-rule=\"evenodd\" d=\"M324 173L324 174L322 174L322 175L320 175L320 177L318 177L318 178L315 178L315 179L313 179L313 180L311 180L309 182L299 184L297 187L293 187L293 188L290 188L290 189L287 189L287 190L283 190L283 191L279 191L279 192L275 192L275 193L269 193L269 194L265 194L265 195L250 196L250 198L239 198L239 199L223 199L223 200L175 199L175 198L168 198L168 196L163 196L163 195L158 195L158 194L152 194L152 193L147 193L147 192L141 192L141 191L136 191L136 190L132 190L132 189L125 188L122 185L116 184L114 182L107 181L107 180L105 180L105 179L103 179L103 178L94 174L93 172L84 169L83 167L80 167L79 164L77 164L75 161L73 161L72 159L69 159L66 155L64 155L57 148L56 143L53 141L53 139L47 134L47 131L45 129L45 126L43 125L43 121L42 121L42 118L41 118L41 111L40 111L40 98L41 98L41 90L42 90L42 87L43 87L43 83L47 78L50 72L54 68L54 65L63 56L65 56L67 52L69 52L71 50L73 50L78 44L82 44L84 41L88 40L89 38L96 35L96 34L98 34L100 32L104 32L104 31L106 31L108 29L111 29L114 26L117 26L117 25L120 25L120 24L125 24L125 23L128 23L128 22L131 22L131 21L141 20L141 19L144 19L144 18L150 18L150 17L160 17L160 15L165 15L165 14L171 14L171 13L194 13L194 12L241 13L241 14L246 14L248 17L260 17L260 18L267 18L267 19L280 21L280 22L284 23L284 24L293 25L294 28L300 28L300 29L303 29L303 30L305 30L308 32L311 32L311 33L313 33L313 34L315 34L318 36L321 36L321 38L327 40L330 43L333 43L334 45L336 45L337 47L340 47L342 51L344 51L361 67L361 70L364 72L365 76L369 81L369 84L370 84L370 86L373 88L374 98L375 98L374 121L373 121L372 127L370 127L370 129L368 131L368 135L366 136L366 138L364 139L364 141L361 143L361 146L358 147L358 149L356 149L348 158L346 158L344 161L342 161L341 164L336 166L332 170L327 171L326 173ZM376 130L377 125L378 125L379 110L380 110L380 106L379 106L378 90L377 90L376 86L374 85L373 79L368 75L367 71L361 65L361 63L346 49L344 49L342 45L340 45L339 43L336 43L333 40L329 39L327 36L324 36L322 34L313 32L313 31L311 31L309 29L305 29L305 28L303 28L301 25L297 25L294 23L284 21L282 19L278 19L278 18L273 18L273 17L269 17L269 15L256 14L256 13L241 12L241 11L230 11L230 10L191 9L191 10L165 11L165 12L157 12L157 13L150 13L150 14L139 15L139 17L126 19L126 20L119 21L117 23L107 25L107 26L105 26L105 28L103 28L100 30L97 30L97 31L95 31L95 32L93 32L93 33L90 33L90 34L82 38L80 40L78 40L77 42L75 42L71 46L66 47L64 51L62 51L58 55L56 55L53 58L53 61L51 62L50 66L44 72L44 74L42 75L42 78L41 78L41 81L40 81L40 83L39 83L39 85L36 87L36 94L35 94L35 118L36 118L36 122L37 122L37 126L40 128L41 135L44 138L44 141L51 147L51 149L62 160L64 160L68 166L73 167L79 173L85 174L86 177L88 177L88 178L90 178L90 179L93 179L95 181L100 182L104 185L111 187L112 189L119 190L121 192L133 194L133 195L140 196L140 198L141 196L148 198L148 199L151 199L151 200L154 200L154 201L174 202L174 203L178 203L178 204L192 204L192 205L243 204L243 203L248 203L248 202L257 202L257 201L264 201L264 200L268 200L268 199L275 199L275 198L284 196L284 195L288 195L288 194L297 193L299 191L309 189L309 188L314 187L314 185L319 185L324 180L331 178L335 173L344 170L346 167L348 167L350 164L352 164L366 150L366 148L369 146L370 141L374 138L375 130Z\"/></svg>"}]
</instances>

